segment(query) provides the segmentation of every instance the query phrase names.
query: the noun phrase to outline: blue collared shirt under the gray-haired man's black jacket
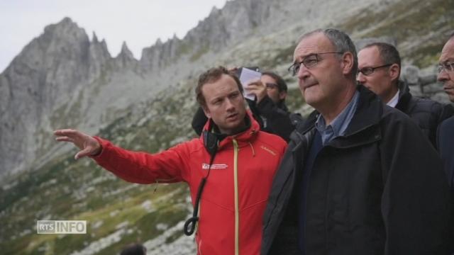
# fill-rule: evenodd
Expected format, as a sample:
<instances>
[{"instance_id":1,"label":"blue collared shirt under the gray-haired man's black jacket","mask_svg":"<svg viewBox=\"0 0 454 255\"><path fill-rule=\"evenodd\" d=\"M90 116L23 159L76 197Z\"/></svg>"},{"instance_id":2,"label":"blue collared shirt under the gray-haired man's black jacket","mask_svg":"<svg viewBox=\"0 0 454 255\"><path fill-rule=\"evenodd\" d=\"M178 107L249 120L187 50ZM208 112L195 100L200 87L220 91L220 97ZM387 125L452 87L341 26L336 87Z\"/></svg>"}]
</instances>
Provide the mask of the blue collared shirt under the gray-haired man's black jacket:
<instances>
[{"instance_id":1,"label":"blue collared shirt under the gray-haired man's black jacket","mask_svg":"<svg viewBox=\"0 0 454 255\"><path fill-rule=\"evenodd\" d=\"M328 126L325 124L325 119L319 115L319 118L315 122L315 128L320 132L323 146L334 138L345 134L345 130L347 130L358 106L358 98L360 98L360 93L356 91L350 103L345 106L343 111Z\"/></svg>"}]
</instances>

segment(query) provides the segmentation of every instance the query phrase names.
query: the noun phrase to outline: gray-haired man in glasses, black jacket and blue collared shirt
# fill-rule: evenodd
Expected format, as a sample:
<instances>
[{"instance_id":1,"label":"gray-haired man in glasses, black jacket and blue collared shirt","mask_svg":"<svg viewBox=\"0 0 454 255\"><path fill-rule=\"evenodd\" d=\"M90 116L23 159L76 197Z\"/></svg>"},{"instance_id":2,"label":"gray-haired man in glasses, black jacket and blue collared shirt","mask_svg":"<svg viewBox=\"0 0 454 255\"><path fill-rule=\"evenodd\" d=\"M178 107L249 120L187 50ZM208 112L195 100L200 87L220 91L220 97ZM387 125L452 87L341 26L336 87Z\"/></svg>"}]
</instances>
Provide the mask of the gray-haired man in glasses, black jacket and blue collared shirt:
<instances>
[{"instance_id":1,"label":"gray-haired man in glasses, black jacket and blue collared shirt","mask_svg":"<svg viewBox=\"0 0 454 255\"><path fill-rule=\"evenodd\" d=\"M304 34L289 71L316 111L292 132L272 183L261 254L446 254L448 184L404 113L356 85L355 45Z\"/></svg>"}]
</instances>

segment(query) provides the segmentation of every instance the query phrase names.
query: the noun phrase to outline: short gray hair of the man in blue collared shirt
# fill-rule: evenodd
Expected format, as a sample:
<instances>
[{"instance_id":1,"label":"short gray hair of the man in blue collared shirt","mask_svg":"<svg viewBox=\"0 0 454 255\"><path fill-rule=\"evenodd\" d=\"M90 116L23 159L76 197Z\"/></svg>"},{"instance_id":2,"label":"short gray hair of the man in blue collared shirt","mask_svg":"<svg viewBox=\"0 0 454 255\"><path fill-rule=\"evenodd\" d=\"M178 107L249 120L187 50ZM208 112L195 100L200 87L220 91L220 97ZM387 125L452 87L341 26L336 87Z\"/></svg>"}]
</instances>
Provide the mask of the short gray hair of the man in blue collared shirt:
<instances>
[{"instance_id":1,"label":"short gray hair of the man in blue collared shirt","mask_svg":"<svg viewBox=\"0 0 454 255\"><path fill-rule=\"evenodd\" d=\"M336 52L350 52L353 55L353 68L352 68L352 79L356 81L356 73L358 72L358 54L356 53L356 47L350 37L341 30L335 28L316 29L309 33L301 35L299 42L304 38L308 38L316 33L323 33L323 35L330 40L331 44L336 48Z\"/></svg>"}]
</instances>

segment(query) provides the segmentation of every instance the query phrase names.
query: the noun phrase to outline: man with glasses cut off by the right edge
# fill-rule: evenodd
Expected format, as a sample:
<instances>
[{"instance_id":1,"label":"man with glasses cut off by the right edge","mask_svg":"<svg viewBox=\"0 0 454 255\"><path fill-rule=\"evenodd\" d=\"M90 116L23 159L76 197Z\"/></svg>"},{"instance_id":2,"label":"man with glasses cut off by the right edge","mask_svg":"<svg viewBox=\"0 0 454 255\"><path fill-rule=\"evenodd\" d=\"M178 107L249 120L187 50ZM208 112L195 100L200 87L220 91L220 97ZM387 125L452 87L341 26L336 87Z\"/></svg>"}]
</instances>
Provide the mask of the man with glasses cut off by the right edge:
<instances>
[{"instance_id":1,"label":"man with glasses cut off by the right edge","mask_svg":"<svg viewBox=\"0 0 454 255\"><path fill-rule=\"evenodd\" d=\"M446 42L438 65L438 81L451 102L454 102L454 33ZM454 187L454 116L441 123L438 130L438 149L445 161L445 171L451 188Z\"/></svg>"}]
</instances>

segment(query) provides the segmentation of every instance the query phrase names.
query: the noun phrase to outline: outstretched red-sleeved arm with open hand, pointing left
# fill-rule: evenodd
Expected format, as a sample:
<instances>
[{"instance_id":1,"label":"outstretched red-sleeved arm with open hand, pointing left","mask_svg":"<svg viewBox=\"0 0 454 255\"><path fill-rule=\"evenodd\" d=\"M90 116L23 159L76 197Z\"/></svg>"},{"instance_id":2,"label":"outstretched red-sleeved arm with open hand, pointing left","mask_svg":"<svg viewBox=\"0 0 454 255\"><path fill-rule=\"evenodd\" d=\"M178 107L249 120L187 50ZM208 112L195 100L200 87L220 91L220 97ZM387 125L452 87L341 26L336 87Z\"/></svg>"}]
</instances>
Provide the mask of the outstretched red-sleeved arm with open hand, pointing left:
<instances>
[{"instance_id":1,"label":"outstretched red-sleeved arm with open hand, pointing left","mask_svg":"<svg viewBox=\"0 0 454 255\"><path fill-rule=\"evenodd\" d=\"M132 152L112 145L99 137L92 137L78 130L56 130L56 140L72 142L81 149L75 159L92 157L99 166L111 171L123 180L133 183L177 182L187 178L189 159L187 147L177 145L158 154Z\"/></svg>"}]
</instances>

